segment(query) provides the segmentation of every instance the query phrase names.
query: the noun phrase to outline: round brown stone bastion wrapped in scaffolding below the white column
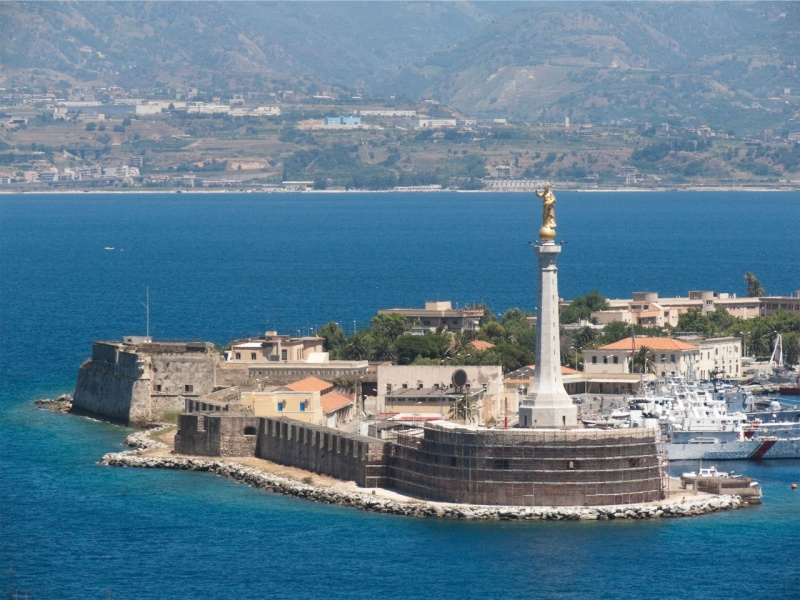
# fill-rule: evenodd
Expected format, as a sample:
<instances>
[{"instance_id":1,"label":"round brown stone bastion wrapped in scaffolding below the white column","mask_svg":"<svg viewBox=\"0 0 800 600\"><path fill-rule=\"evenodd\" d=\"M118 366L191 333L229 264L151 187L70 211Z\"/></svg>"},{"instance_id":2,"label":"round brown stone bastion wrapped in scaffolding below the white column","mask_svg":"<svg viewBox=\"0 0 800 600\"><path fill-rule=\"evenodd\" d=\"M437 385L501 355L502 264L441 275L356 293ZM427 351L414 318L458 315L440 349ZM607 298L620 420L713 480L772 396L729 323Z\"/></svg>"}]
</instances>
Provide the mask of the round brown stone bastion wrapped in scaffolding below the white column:
<instances>
[{"instance_id":1,"label":"round brown stone bastion wrapped in scaffolding below the white column","mask_svg":"<svg viewBox=\"0 0 800 600\"><path fill-rule=\"evenodd\" d=\"M389 446L387 480L428 500L600 506L664 497L655 432L428 425Z\"/></svg>"}]
</instances>

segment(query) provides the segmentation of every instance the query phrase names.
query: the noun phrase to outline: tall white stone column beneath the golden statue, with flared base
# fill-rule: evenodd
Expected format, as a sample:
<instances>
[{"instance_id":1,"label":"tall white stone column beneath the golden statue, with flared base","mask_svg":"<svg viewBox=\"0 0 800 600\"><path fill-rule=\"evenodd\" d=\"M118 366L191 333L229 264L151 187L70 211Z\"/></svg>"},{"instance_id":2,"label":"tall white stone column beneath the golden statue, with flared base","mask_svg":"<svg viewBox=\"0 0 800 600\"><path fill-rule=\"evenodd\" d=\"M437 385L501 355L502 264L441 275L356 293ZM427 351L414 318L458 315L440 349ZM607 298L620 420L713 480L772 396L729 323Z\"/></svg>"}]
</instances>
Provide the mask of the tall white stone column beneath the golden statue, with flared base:
<instances>
[{"instance_id":1,"label":"tall white stone column beneath the golden statue, with flared base","mask_svg":"<svg viewBox=\"0 0 800 600\"><path fill-rule=\"evenodd\" d=\"M536 320L536 370L528 395L519 407L520 427L576 427L578 409L561 379L558 321L558 268L561 246L534 246L539 260L539 303Z\"/></svg>"}]
</instances>

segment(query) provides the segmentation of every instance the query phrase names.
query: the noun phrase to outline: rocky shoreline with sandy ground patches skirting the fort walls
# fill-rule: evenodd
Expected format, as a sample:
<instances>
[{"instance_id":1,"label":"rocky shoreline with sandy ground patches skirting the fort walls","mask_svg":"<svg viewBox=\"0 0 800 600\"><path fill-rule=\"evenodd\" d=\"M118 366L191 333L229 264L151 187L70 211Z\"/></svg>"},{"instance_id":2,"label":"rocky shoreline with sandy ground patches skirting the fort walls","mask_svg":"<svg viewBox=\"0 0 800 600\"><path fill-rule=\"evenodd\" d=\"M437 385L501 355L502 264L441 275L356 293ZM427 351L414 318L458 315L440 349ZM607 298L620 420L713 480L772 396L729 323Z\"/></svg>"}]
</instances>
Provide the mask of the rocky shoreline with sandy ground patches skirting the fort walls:
<instances>
[{"instance_id":1,"label":"rocky shoreline with sandy ground patches skirting the fort walls","mask_svg":"<svg viewBox=\"0 0 800 600\"><path fill-rule=\"evenodd\" d=\"M161 429L163 431L166 428ZM365 490L357 488L351 482L333 482L330 478L320 478L314 473L299 470L294 471L307 476L302 477L302 480L295 479L275 472L283 470L280 465L259 459L242 459L250 463L243 464L236 462L235 459L210 460L174 455L170 452L169 444L153 439L154 434L158 437L158 433L159 430L146 430L129 435L125 444L132 446L134 450L106 454L100 463L115 467L213 473L286 496L409 517L500 521L604 521L689 517L748 506L739 496L712 494L687 494L681 498L676 497L675 500L639 505L593 507L479 506L428 502L383 489ZM251 464L257 466L250 466ZM314 480L323 479L326 480L326 485L313 483ZM306 483L307 481L312 483Z\"/></svg>"}]
</instances>

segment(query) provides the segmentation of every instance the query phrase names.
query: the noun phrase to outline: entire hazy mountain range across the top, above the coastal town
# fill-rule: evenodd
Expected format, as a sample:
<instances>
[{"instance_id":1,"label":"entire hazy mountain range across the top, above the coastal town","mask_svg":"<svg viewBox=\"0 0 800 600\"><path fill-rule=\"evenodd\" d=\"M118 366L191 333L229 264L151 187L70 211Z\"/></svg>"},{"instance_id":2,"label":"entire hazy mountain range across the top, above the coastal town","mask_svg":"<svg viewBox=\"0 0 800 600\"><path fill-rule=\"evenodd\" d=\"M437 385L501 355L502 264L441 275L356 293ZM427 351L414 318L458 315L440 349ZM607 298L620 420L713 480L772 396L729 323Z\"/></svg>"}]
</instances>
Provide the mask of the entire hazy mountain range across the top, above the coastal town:
<instances>
[{"instance_id":1,"label":"entire hazy mountain range across the top, above the coastal town","mask_svg":"<svg viewBox=\"0 0 800 600\"><path fill-rule=\"evenodd\" d=\"M798 118L798 61L796 2L0 2L3 87L340 87L758 129Z\"/></svg>"}]
</instances>

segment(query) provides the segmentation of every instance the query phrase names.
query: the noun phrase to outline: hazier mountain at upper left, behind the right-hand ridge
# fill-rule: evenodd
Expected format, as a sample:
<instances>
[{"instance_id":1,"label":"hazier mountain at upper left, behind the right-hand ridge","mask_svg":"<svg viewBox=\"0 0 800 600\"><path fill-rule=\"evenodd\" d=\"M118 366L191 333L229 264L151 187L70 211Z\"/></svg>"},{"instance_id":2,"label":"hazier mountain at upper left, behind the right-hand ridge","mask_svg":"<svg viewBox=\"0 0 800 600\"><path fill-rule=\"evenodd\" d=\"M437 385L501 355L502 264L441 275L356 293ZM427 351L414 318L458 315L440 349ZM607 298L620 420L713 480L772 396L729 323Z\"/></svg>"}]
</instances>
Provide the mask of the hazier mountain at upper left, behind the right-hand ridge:
<instances>
[{"instance_id":1,"label":"hazier mountain at upper left, behind the right-hand ridge","mask_svg":"<svg viewBox=\"0 0 800 600\"><path fill-rule=\"evenodd\" d=\"M482 29L502 3L2 2L0 78L259 89L371 86ZM36 72L36 73L35 73Z\"/></svg>"}]
</instances>

